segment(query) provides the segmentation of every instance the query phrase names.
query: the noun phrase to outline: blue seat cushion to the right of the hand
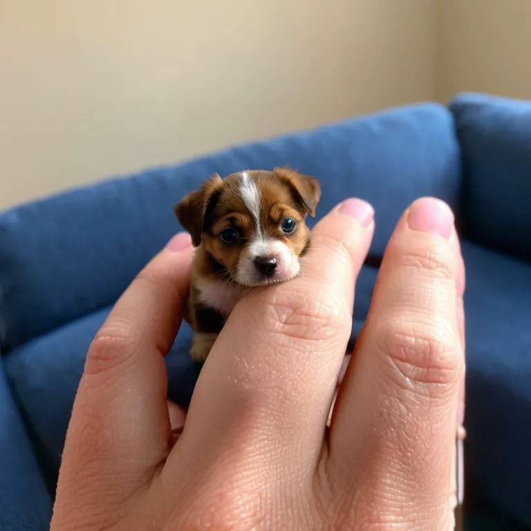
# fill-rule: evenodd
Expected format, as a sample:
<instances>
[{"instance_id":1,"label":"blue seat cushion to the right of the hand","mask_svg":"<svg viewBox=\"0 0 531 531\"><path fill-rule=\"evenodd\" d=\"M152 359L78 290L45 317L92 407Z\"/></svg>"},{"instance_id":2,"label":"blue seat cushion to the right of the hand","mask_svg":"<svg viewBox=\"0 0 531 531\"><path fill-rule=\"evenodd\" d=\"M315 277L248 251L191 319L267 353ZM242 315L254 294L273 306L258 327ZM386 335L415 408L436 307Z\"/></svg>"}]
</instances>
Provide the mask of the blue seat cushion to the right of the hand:
<instances>
[{"instance_id":1,"label":"blue seat cushion to the right of the hand","mask_svg":"<svg viewBox=\"0 0 531 531\"><path fill-rule=\"evenodd\" d=\"M531 265L463 243L469 494L531 526Z\"/></svg>"}]
</instances>

